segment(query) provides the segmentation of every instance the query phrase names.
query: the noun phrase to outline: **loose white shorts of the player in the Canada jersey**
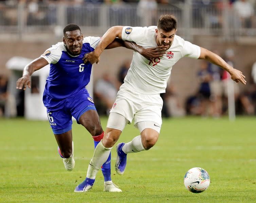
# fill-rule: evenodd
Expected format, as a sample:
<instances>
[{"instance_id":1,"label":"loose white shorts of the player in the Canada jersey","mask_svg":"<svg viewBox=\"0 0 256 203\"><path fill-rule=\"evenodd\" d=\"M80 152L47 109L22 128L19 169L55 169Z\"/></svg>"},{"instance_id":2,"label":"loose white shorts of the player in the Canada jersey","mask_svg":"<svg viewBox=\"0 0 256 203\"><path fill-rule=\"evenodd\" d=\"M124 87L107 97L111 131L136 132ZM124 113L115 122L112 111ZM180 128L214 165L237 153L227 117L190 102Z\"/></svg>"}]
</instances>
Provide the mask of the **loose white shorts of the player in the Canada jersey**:
<instances>
[{"instance_id":1,"label":"loose white shorts of the player in the Canada jersey","mask_svg":"<svg viewBox=\"0 0 256 203\"><path fill-rule=\"evenodd\" d=\"M141 94L121 87L110 113L123 115L129 122L134 119L134 126L141 121L152 121L162 125L163 100L160 94Z\"/></svg>"}]
</instances>

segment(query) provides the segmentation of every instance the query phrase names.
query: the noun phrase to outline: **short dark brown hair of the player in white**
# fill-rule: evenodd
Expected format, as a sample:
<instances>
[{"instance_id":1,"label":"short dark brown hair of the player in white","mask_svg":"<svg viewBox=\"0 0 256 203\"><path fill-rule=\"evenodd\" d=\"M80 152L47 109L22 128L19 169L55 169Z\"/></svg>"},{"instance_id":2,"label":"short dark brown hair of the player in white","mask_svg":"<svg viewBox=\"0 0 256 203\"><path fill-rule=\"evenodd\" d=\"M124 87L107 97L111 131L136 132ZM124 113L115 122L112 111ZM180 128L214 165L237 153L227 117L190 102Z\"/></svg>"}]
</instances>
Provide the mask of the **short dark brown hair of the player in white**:
<instances>
[{"instance_id":1,"label":"short dark brown hair of the player in white","mask_svg":"<svg viewBox=\"0 0 256 203\"><path fill-rule=\"evenodd\" d=\"M157 29L169 32L173 29L177 29L177 19L174 15L162 15L157 23Z\"/></svg>"}]
</instances>

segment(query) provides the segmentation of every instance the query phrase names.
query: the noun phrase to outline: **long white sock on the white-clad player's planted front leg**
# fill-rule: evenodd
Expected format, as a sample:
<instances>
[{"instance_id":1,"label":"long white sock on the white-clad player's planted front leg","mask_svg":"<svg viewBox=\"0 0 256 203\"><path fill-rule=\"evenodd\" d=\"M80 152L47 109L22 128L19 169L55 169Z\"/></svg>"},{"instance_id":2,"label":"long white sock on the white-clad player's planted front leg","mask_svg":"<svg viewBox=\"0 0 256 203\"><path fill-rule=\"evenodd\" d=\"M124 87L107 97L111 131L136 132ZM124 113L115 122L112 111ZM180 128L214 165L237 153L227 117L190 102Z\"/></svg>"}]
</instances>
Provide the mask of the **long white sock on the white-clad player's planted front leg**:
<instances>
[{"instance_id":1,"label":"long white sock on the white-clad player's planted front leg","mask_svg":"<svg viewBox=\"0 0 256 203\"><path fill-rule=\"evenodd\" d=\"M100 142L98 143L98 145L94 150L93 157L88 166L88 171L86 175L87 178L95 179L98 170L107 161L111 149L112 147L106 148L102 144L102 140L100 140Z\"/></svg>"}]
</instances>

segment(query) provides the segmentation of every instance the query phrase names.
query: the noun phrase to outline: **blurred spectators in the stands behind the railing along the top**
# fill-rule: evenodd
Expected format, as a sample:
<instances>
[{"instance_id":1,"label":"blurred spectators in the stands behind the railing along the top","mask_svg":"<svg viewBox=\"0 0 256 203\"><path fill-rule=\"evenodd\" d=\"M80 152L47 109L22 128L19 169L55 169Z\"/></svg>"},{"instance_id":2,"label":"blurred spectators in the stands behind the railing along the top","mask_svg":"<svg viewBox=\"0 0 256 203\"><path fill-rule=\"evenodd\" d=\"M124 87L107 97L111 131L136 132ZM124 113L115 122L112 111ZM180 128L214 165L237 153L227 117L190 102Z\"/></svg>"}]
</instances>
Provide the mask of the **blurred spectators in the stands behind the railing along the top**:
<instances>
[{"instance_id":1,"label":"blurred spectators in the stands behind the railing along the top","mask_svg":"<svg viewBox=\"0 0 256 203\"><path fill-rule=\"evenodd\" d=\"M158 8L170 8L175 11L177 17L181 17L179 14L186 2L186 0L0 0L0 24L17 25L17 5L19 4L26 11L22 16L26 25L56 25L58 11L55 5L65 4L67 5L68 23L76 23L80 26L100 26L98 19L100 19L101 9L97 5L107 4L111 6L108 15L111 22L133 26L133 22L136 21L149 26L157 23ZM256 27L256 0L229 0L228 5L221 0L192 0L191 2L193 18L191 26L193 27L221 28L224 23L234 28ZM136 14L129 7L132 4L136 5ZM83 6L86 6L86 9ZM228 17L228 22L224 22L223 19L224 8L228 8L232 14ZM128 22L127 18L131 18L131 22ZM110 24L112 26L113 23Z\"/></svg>"}]
</instances>

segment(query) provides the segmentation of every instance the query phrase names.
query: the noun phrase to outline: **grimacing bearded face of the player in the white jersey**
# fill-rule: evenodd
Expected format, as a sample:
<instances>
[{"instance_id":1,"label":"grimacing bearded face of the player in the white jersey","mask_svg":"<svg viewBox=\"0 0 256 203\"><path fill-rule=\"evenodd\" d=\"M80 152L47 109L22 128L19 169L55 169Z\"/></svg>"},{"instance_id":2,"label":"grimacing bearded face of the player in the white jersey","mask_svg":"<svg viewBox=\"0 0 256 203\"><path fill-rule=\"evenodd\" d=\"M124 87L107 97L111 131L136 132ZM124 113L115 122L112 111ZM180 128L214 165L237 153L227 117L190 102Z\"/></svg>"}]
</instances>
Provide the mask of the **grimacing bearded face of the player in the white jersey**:
<instances>
[{"instance_id":1,"label":"grimacing bearded face of the player in the white jersey","mask_svg":"<svg viewBox=\"0 0 256 203\"><path fill-rule=\"evenodd\" d=\"M157 45L158 46L162 46L163 48L169 49L172 41L174 39L175 33L176 33L177 29L173 29L169 32L166 32L162 29L156 29L156 33L157 33Z\"/></svg>"}]
</instances>

